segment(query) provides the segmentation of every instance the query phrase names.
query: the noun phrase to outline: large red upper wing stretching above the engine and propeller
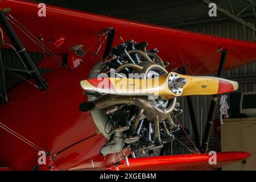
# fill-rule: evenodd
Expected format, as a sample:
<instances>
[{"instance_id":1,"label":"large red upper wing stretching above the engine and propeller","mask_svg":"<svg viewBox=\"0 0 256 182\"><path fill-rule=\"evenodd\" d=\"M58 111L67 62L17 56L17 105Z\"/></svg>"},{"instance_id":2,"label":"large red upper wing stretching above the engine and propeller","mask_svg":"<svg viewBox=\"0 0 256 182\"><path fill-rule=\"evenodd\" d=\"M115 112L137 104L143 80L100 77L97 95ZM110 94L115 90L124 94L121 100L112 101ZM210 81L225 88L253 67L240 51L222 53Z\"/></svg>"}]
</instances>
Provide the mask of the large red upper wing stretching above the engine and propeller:
<instances>
[{"instance_id":1,"label":"large red upper wing stretching above the engine and propeller","mask_svg":"<svg viewBox=\"0 0 256 182\"><path fill-rule=\"evenodd\" d=\"M108 27L114 27L114 45L123 40L134 39L136 42L148 42L148 48L157 47L164 61L171 63L171 68L186 67L189 75L214 73L218 69L221 49L228 49L225 69L237 68L256 61L256 44L218 36L181 31L173 28L153 26L108 16L84 13L81 11L46 6L46 17L38 16L38 4L2 0L1 9L10 8L10 14L27 28L36 38L43 38L43 43L55 54L71 52L71 47L82 44L84 49L96 51L99 47L98 35ZM18 28L16 34L28 51L43 52ZM92 51L93 50L93 51ZM88 51L89 52L89 51ZM84 60L90 60L90 53ZM90 55L90 56L89 56Z\"/></svg>"}]
</instances>

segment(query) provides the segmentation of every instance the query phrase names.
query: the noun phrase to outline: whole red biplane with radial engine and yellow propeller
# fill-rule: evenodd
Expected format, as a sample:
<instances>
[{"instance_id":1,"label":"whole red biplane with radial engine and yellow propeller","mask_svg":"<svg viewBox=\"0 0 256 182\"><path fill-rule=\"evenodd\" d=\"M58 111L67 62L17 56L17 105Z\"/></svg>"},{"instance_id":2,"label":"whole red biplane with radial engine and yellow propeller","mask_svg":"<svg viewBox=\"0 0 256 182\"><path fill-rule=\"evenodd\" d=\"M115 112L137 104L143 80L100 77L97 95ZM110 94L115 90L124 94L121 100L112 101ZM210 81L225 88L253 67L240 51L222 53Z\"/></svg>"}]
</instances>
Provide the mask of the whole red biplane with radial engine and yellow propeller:
<instances>
[{"instance_id":1,"label":"whole red biplane with radial engine and yellow propeller","mask_svg":"<svg viewBox=\"0 0 256 182\"><path fill-rule=\"evenodd\" d=\"M203 75L220 71L220 57L225 71L256 61L256 44L48 5L39 16L42 6L27 1L2 0L0 9L1 48L14 49L28 75L1 94L6 169L200 170L250 156L220 152L212 165L199 150L127 159L175 139L177 97L236 90L237 82ZM27 51L43 54L39 65ZM39 68L51 72L41 75ZM153 85L135 88L144 81ZM46 163L38 163L38 151Z\"/></svg>"}]
</instances>

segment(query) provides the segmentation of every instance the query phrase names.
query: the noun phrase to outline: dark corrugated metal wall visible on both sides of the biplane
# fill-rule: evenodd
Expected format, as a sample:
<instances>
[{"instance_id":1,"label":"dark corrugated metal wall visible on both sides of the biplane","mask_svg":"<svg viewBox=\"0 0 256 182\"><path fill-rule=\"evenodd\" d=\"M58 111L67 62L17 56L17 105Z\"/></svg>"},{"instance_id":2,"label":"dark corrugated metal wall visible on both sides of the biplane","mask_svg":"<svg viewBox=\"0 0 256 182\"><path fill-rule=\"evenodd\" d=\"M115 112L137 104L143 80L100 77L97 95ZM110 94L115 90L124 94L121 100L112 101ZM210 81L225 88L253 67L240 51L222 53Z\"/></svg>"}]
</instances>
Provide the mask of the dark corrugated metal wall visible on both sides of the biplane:
<instances>
[{"instance_id":1,"label":"dark corrugated metal wall visible on both sides of the biplane","mask_svg":"<svg viewBox=\"0 0 256 182\"><path fill-rule=\"evenodd\" d=\"M216 25L218 24L218 25ZM218 36L225 36L228 38L236 38L241 40L249 40L249 41L255 41L253 38L253 32L250 30L247 30L246 28L243 28L243 26L239 23L232 22L232 23L214 23L214 25L207 25L207 26L200 26L200 27L194 27L194 28L187 28L187 30L201 32L205 34L211 34L211 35L218 35ZM24 69L22 62L18 59L18 56L14 53L14 51L2 49L2 58L3 58L3 64L7 68L14 68L14 69ZM38 53L29 53L31 56L31 59L34 61L35 64L38 64L41 55ZM40 72L46 72L46 70L40 70ZM250 75L252 77L256 77L256 64L250 64L246 65L245 67L234 69L232 71L226 72L224 76L229 77L244 77L246 75ZM20 81L20 78L14 76L11 73L6 73L6 80L7 80L7 87L10 88L11 86L14 86L16 83ZM246 82L246 83L240 83L240 89L239 92L249 92L249 91L255 91L256 90L256 82ZM2 92L2 77L0 76L0 91ZM209 110L209 103L210 103L210 96L192 96L193 100L193 106L195 108L195 114L197 119L197 126L199 127L199 133L200 131L204 131L205 128L205 121L207 119L207 114ZM181 125L189 130L189 133L191 137L192 135L192 126L191 121L189 117L189 112L187 108L187 101L185 98L179 98L179 102L181 104L180 108L184 110L183 114L179 116L179 120L181 122ZM218 112L216 113L216 117L218 117ZM202 121L202 124L201 124ZM213 131L213 130L212 130ZM203 135L203 134L202 134ZM184 140L187 141L187 140ZM213 148L214 138L213 133L212 137L210 138L210 148ZM186 144L190 146L189 142L187 141ZM180 151L180 153L185 152Z\"/></svg>"}]
</instances>

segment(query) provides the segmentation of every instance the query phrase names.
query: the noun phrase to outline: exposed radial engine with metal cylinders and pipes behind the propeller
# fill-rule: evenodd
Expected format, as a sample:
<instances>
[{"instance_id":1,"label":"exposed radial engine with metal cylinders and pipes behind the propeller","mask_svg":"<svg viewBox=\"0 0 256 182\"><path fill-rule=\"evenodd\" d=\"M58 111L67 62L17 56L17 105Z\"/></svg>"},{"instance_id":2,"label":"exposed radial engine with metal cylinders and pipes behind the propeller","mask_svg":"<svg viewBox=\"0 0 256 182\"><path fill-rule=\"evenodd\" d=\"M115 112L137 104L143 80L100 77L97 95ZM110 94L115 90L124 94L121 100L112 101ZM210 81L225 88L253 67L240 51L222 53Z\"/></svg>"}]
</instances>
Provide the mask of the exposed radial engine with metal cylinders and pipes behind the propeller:
<instances>
[{"instance_id":1,"label":"exposed radial engine with metal cylinders and pipes behind the propeller","mask_svg":"<svg viewBox=\"0 0 256 182\"><path fill-rule=\"evenodd\" d=\"M103 73L127 78L132 73L143 75L142 79L167 74L168 64L156 55L157 49L148 51L146 47L146 42L137 44L130 40L112 48L112 55L98 63L89 78ZM185 83L186 80L173 75L169 86L178 94ZM83 110L92 112L96 126L109 139L101 148L102 155L119 153L124 147L130 148L133 154L144 154L145 150L161 148L174 140L172 133L179 130L173 121L182 111L176 108L179 106L176 98L86 94L89 102L82 104Z\"/></svg>"}]
</instances>

